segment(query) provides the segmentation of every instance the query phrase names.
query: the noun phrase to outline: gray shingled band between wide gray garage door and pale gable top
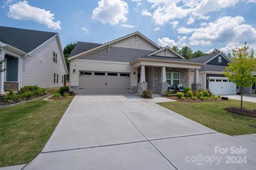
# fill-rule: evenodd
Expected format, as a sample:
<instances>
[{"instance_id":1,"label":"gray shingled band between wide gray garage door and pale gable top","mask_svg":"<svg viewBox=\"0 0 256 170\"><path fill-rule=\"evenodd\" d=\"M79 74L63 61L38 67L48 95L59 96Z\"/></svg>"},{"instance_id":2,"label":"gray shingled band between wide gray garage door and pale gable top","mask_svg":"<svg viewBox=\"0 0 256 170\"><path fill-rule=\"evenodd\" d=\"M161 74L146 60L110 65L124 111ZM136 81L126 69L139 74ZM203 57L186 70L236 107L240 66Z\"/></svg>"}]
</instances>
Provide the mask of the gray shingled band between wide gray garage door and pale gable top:
<instances>
[{"instance_id":1,"label":"gray shingled band between wide gray garage door and pale gable top","mask_svg":"<svg viewBox=\"0 0 256 170\"><path fill-rule=\"evenodd\" d=\"M110 46L110 51L108 51L108 47L106 47L80 59L131 62L152 52L154 51Z\"/></svg>"}]
</instances>

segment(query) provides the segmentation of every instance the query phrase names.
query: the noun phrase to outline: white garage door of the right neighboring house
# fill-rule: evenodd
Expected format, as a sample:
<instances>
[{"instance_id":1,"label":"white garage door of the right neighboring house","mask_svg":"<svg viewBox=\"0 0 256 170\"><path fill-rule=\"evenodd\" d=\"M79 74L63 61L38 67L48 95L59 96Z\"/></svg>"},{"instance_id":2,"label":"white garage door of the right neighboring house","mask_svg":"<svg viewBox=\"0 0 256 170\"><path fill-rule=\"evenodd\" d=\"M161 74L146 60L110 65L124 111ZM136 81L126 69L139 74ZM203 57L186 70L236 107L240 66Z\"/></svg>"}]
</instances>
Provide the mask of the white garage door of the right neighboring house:
<instances>
[{"instance_id":1,"label":"white garage door of the right neighboring house","mask_svg":"<svg viewBox=\"0 0 256 170\"><path fill-rule=\"evenodd\" d=\"M209 88L212 94L236 94L236 85L227 78L209 78Z\"/></svg>"}]
</instances>

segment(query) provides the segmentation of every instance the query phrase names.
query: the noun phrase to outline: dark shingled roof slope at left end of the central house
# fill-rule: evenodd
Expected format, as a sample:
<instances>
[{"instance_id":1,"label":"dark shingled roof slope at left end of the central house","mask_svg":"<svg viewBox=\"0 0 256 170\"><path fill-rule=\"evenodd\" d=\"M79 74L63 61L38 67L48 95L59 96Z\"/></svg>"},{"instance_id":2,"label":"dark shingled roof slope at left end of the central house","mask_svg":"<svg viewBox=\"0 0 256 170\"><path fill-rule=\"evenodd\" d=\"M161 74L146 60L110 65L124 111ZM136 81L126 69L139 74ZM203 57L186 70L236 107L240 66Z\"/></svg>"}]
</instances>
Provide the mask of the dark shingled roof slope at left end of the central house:
<instances>
[{"instance_id":1,"label":"dark shingled roof slope at left end of the central house","mask_svg":"<svg viewBox=\"0 0 256 170\"><path fill-rule=\"evenodd\" d=\"M82 53L84 51L90 50L92 48L95 48L97 46L100 46L102 44L97 44L97 43L86 43L86 42L78 42L75 46L75 48L71 51L71 53L69 54L70 56Z\"/></svg>"}]
</instances>

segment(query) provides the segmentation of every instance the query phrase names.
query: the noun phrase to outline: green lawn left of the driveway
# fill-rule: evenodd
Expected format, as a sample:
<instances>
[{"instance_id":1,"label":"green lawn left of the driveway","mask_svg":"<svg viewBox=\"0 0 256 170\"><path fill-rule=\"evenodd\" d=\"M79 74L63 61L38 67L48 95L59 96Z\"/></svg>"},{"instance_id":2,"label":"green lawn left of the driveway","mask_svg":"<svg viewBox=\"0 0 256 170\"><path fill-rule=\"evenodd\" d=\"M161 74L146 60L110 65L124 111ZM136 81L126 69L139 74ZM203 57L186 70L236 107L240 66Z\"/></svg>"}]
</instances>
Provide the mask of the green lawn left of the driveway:
<instances>
[{"instance_id":1,"label":"green lawn left of the driveway","mask_svg":"<svg viewBox=\"0 0 256 170\"><path fill-rule=\"evenodd\" d=\"M27 164L34 159L72 99L39 99L0 109L0 167Z\"/></svg>"}]
</instances>

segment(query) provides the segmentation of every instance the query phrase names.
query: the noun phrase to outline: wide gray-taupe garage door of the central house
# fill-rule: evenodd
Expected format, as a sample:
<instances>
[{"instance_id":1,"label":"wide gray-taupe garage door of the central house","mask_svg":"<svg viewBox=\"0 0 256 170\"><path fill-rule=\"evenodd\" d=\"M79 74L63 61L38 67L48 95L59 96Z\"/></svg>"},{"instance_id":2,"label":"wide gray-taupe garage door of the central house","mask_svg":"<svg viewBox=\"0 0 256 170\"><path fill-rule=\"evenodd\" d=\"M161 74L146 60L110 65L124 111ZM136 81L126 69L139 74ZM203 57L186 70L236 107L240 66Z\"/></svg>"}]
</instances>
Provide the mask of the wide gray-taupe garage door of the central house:
<instances>
[{"instance_id":1,"label":"wide gray-taupe garage door of the central house","mask_svg":"<svg viewBox=\"0 0 256 170\"><path fill-rule=\"evenodd\" d=\"M130 88L130 73L79 71L79 94L127 94Z\"/></svg>"}]
</instances>

